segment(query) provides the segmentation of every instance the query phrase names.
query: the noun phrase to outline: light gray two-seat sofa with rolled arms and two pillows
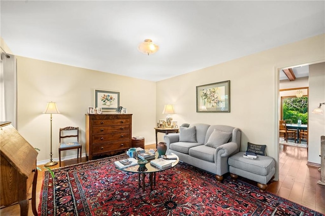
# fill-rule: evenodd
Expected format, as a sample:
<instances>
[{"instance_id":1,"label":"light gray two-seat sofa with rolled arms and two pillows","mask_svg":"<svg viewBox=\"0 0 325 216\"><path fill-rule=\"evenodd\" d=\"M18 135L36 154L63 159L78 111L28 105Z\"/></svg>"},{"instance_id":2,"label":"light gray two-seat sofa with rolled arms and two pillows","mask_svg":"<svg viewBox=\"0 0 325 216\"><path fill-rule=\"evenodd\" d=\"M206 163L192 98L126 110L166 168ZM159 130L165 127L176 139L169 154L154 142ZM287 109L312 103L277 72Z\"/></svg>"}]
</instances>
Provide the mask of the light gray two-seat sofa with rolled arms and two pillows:
<instances>
[{"instance_id":1,"label":"light gray two-seat sofa with rolled arms and two pillows","mask_svg":"<svg viewBox=\"0 0 325 216\"><path fill-rule=\"evenodd\" d=\"M241 131L226 125L190 124L188 128L180 127L180 133L165 135L164 140L168 153L216 174L221 182L222 175L229 172L228 158L240 150Z\"/></svg>"}]
</instances>

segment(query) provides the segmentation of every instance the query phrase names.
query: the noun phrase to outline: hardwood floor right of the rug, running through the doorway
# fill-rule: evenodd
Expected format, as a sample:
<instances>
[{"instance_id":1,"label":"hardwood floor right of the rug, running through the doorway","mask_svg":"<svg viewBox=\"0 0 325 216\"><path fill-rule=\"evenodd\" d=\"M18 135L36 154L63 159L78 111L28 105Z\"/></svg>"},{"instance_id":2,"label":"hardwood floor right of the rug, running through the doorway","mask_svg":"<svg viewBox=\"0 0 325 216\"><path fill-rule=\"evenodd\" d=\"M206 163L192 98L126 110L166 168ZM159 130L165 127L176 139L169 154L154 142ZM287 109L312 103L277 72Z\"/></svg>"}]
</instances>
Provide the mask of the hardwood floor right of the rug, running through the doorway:
<instances>
[{"instance_id":1,"label":"hardwood floor right of the rug, running through the doorway","mask_svg":"<svg viewBox=\"0 0 325 216\"><path fill-rule=\"evenodd\" d=\"M325 186L317 184L320 171L306 165L307 149L287 146L279 158L279 181L272 182L268 191L325 214Z\"/></svg>"}]
</instances>

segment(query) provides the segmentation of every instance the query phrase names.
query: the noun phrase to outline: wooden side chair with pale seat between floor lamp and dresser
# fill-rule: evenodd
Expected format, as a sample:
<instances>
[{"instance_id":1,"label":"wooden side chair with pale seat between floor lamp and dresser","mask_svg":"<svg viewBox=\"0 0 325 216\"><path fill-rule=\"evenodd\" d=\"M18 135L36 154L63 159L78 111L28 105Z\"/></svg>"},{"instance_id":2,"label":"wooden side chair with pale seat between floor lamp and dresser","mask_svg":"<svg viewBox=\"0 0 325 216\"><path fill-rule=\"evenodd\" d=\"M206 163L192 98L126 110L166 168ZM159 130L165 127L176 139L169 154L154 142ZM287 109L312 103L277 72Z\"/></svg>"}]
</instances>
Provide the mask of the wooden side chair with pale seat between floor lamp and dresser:
<instances>
[{"instance_id":1,"label":"wooden side chair with pale seat between floor lamp and dresser","mask_svg":"<svg viewBox=\"0 0 325 216\"><path fill-rule=\"evenodd\" d=\"M72 142L63 142L64 140L71 137L74 139ZM71 149L78 149L77 152L77 160L79 161L79 149L80 149L80 159L81 159L81 151L82 146L79 143L79 127L64 127L60 128L59 132L59 166L61 166L61 151L71 150Z\"/></svg>"}]
</instances>

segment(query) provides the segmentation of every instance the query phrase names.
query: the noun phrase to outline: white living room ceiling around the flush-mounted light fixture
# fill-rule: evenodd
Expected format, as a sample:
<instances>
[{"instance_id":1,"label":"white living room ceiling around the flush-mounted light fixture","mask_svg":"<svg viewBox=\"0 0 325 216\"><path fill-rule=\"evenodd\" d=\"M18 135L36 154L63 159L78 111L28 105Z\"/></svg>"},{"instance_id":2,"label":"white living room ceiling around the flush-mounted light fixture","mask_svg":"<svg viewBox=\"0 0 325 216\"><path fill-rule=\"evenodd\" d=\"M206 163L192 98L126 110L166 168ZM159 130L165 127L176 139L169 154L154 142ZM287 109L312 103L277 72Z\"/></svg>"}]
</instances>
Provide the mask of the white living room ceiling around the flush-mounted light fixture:
<instances>
[{"instance_id":1,"label":"white living room ceiling around the flush-mounted light fixture","mask_svg":"<svg viewBox=\"0 0 325 216\"><path fill-rule=\"evenodd\" d=\"M15 55L159 81L325 33L324 1L1 1ZM159 45L147 56L145 39Z\"/></svg>"}]
</instances>

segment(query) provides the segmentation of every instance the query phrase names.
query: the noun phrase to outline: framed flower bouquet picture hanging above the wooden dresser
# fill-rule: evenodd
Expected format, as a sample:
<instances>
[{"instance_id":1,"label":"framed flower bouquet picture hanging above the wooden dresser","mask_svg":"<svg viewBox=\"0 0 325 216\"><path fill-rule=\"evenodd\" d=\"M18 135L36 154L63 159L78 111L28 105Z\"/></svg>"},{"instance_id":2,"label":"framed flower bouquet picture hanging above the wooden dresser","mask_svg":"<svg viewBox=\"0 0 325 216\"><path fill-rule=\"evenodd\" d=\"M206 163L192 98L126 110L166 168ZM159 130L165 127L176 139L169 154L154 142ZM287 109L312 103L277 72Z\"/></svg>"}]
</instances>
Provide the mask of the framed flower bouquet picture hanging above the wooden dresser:
<instances>
[{"instance_id":1,"label":"framed flower bouquet picture hanging above the wooden dresser","mask_svg":"<svg viewBox=\"0 0 325 216\"><path fill-rule=\"evenodd\" d=\"M115 111L120 105L120 93L106 90L94 90L95 107L102 111Z\"/></svg>"}]
</instances>

